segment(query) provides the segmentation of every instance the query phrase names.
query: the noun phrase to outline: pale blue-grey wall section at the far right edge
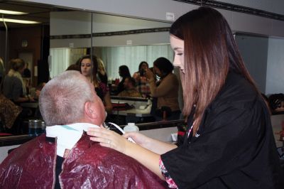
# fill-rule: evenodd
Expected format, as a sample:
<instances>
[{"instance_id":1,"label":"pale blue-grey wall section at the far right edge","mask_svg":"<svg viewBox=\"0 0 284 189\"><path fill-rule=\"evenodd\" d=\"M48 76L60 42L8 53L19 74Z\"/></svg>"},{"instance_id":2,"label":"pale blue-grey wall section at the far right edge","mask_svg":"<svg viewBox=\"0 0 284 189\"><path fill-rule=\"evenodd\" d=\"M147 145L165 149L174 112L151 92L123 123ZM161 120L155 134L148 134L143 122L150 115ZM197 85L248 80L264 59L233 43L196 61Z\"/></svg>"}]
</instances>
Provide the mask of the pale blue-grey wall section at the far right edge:
<instances>
[{"instance_id":1,"label":"pale blue-grey wall section at the far right edge","mask_svg":"<svg viewBox=\"0 0 284 189\"><path fill-rule=\"evenodd\" d=\"M284 93L284 39L269 38L266 94Z\"/></svg>"}]
</instances>

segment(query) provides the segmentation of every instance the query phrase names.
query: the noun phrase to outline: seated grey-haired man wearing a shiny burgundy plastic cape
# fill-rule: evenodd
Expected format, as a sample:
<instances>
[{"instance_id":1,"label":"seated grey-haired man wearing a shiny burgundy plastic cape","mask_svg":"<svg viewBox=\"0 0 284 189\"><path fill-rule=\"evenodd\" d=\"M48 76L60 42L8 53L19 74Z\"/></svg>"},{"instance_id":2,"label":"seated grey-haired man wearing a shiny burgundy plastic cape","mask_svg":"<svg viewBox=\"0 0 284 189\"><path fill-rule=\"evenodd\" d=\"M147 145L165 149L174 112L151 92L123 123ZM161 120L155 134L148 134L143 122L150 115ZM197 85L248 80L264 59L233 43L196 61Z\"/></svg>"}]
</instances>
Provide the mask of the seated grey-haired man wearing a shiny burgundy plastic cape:
<instances>
[{"instance_id":1,"label":"seated grey-haired man wearing a shiny burgundy plastic cape","mask_svg":"<svg viewBox=\"0 0 284 189\"><path fill-rule=\"evenodd\" d=\"M39 106L46 136L21 145L1 163L0 188L164 188L138 161L89 140L84 131L102 126L106 114L80 72L50 80Z\"/></svg>"}]
</instances>

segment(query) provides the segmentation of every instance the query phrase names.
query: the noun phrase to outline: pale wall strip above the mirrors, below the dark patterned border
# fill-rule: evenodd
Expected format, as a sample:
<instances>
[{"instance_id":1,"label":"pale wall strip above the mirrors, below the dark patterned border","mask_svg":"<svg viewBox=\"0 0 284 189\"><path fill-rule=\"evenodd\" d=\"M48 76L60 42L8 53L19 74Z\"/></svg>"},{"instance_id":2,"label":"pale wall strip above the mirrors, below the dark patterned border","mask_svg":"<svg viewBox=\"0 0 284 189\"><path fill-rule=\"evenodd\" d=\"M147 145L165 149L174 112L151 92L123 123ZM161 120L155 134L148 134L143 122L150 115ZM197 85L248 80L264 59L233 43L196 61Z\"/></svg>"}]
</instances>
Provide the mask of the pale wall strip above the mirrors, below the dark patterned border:
<instances>
[{"instance_id":1,"label":"pale wall strip above the mirrors, below the dark patterned border","mask_svg":"<svg viewBox=\"0 0 284 189\"><path fill-rule=\"evenodd\" d=\"M26 0L30 2L53 4L83 11L97 11L111 13L133 18L146 18L156 21L165 21L166 12L175 14L178 18L183 13L196 9L198 6L172 0ZM280 1L271 1L273 6L279 5L284 9ZM278 3L278 4L277 4ZM284 21L277 21L247 13L219 10L229 22L232 30L249 33L259 33L268 36L284 37Z\"/></svg>"}]
</instances>

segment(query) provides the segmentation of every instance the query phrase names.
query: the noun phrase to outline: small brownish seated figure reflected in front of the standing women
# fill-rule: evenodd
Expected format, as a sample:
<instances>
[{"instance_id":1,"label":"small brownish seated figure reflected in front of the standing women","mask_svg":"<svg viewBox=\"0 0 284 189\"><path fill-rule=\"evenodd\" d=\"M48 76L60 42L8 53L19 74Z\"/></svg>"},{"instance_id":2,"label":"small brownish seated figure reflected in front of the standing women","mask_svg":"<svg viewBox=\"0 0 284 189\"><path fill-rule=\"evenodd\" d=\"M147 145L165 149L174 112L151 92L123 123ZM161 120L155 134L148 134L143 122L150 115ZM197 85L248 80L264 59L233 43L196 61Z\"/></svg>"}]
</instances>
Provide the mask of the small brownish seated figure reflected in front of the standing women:
<instances>
[{"instance_id":1,"label":"small brownish seated figure reflected in front of the standing women","mask_svg":"<svg viewBox=\"0 0 284 189\"><path fill-rule=\"evenodd\" d=\"M135 87L136 81L133 77L126 77L124 80L124 89L119 92L119 97L142 97L141 93Z\"/></svg>"}]
</instances>

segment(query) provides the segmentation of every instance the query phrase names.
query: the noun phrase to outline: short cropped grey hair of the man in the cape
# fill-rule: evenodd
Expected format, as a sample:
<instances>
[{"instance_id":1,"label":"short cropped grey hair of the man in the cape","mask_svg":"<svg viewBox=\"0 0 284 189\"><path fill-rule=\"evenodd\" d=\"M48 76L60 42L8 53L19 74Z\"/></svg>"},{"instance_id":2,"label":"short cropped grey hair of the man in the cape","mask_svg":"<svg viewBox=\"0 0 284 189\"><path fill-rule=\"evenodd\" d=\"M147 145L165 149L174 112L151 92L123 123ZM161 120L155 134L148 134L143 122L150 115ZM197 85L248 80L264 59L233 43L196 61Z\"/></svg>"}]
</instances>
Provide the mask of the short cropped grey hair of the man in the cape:
<instances>
[{"instance_id":1,"label":"short cropped grey hair of the man in the cape","mask_svg":"<svg viewBox=\"0 0 284 189\"><path fill-rule=\"evenodd\" d=\"M94 88L78 71L65 71L40 92L39 107L47 126L73 124L84 116L84 104L93 102Z\"/></svg>"}]
</instances>

